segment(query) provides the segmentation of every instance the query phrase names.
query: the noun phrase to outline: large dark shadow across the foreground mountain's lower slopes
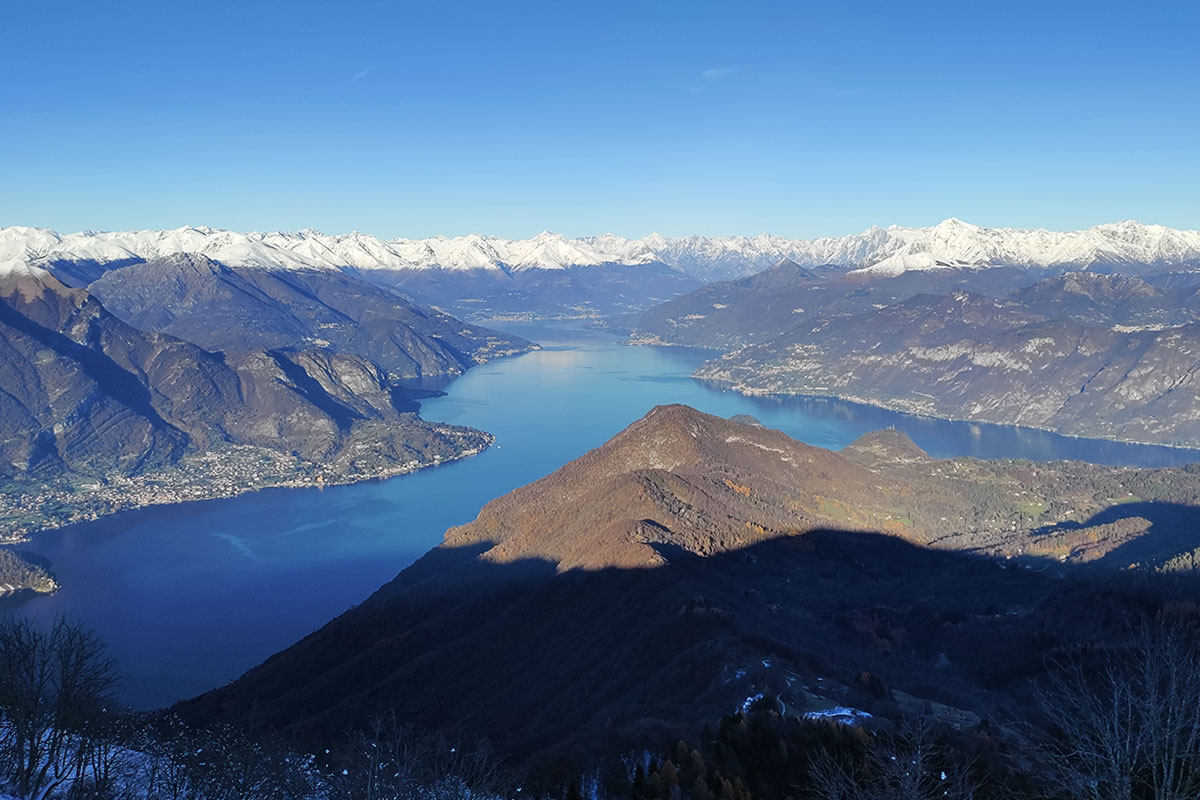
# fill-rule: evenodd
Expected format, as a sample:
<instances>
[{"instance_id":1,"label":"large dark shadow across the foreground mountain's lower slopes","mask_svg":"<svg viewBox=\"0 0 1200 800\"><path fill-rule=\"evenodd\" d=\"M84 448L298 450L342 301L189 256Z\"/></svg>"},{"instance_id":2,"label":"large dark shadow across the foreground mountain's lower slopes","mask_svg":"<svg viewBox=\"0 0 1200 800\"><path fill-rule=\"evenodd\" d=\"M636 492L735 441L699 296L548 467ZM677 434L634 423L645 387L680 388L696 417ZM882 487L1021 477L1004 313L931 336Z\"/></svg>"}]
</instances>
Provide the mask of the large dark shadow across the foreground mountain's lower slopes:
<instances>
[{"instance_id":1,"label":"large dark shadow across the foreground mountain's lower slopes","mask_svg":"<svg viewBox=\"0 0 1200 800\"><path fill-rule=\"evenodd\" d=\"M589 754L671 744L748 697L800 685L881 720L899 712L893 688L986 717L1027 702L1049 660L1200 597L1190 577L1038 572L838 530L710 557L659 545L666 565L631 570L480 560L490 547L432 551L175 710L306 747L395 711L569 775Z\"/></svg>"}]
</instances>

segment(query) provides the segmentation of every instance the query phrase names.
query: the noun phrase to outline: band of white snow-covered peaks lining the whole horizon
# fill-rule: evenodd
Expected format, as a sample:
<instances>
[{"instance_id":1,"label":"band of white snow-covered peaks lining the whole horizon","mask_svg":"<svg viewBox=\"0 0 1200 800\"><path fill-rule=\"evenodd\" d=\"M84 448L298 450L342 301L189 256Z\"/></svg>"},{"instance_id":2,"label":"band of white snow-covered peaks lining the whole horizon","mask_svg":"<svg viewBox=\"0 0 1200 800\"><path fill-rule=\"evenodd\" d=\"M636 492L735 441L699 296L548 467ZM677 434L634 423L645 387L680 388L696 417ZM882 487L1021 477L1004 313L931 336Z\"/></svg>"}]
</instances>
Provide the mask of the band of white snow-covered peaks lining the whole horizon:
<instances>
[{"instance_id":1,"label":"band of white snow-covered peaks lining the whole horizon","mask_svg":"<svg viewBox=\"0 0 1200 800\"><path fill-rule=\"evenodd\" d=\"M1139 222L1086 230L983 228L946 219L929 228L871 228L860 234L811 240L757 236L606 234L568 239L437 236L383 240L366 234L235 233L185 227L175 230L58 234L41 228L0 229L0 261L145 260L197 253L230 266L358 270L466 270L521 272L580 266L665 264L701 279L739 277L790 259L800 266L838 265L898 275L944 266L1177 269L1200 264L1200 231Z\"/></svg>"}]
</instances>

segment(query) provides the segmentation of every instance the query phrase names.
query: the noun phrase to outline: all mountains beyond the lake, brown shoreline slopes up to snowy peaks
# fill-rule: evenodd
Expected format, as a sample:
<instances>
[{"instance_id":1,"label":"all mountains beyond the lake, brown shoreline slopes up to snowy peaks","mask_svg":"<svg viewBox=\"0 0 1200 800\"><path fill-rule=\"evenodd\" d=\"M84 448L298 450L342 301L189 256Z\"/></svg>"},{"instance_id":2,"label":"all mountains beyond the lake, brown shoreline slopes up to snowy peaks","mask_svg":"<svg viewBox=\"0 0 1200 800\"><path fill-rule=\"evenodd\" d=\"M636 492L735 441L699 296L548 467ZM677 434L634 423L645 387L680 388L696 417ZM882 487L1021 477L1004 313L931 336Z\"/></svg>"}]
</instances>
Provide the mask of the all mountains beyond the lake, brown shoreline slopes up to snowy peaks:
<instances>
[{"instance_id":1,"label":"all mountains beyond the lake, brown shoreline slopes up to snowy peaks","mask_svg":"<svg viewBox=\"0 0 1200 800\"><path fill-rule=\"evenodd\" d=\"M1195 446L1198 258L1200 234L1133 222L817 240L4 228L0 470L128 479L232 446L306 464L272 462L272 480L348 480L478 451L478 432L430 447L412 381L534 345L460 317L617 314L635 341L727 350L696 374L746 392ZM72 519L152 493L82 510L60 489L36 505Z\"/></svg>"}]
</instances>

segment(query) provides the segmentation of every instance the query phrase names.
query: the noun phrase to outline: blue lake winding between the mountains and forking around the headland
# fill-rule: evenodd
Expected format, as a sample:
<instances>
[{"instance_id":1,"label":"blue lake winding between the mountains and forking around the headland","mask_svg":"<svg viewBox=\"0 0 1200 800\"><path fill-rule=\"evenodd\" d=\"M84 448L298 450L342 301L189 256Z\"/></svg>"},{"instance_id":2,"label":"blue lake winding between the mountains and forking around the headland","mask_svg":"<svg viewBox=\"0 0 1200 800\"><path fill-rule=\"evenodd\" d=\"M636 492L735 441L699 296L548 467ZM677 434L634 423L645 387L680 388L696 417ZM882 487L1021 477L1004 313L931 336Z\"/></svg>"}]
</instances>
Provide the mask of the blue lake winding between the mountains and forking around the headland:
<instances>
[{"instance_id":1,"label":"blue lake winding between the mountains and forking around the headland","mask_svg":"<svg viewBox=\"0 0 1200 800\"><path fill-rule=\"evenodd\" d=\"M24 603L94 627L121 663L125 702L164 705L240 675L366 599L443 531L517 486L602 444L659 403L751 414L809 444L841 447L895 426L935 456L1168 465L1196 451L944 422L811 398L761 398L689 378L706 354L629 348L569 327L511 327L545 349L476 367L422 403L426 419L496 434L474 458L388 481L268 489L145 509L48 531L26 549L62 590Z\"/></svg>"}]
</instances>

